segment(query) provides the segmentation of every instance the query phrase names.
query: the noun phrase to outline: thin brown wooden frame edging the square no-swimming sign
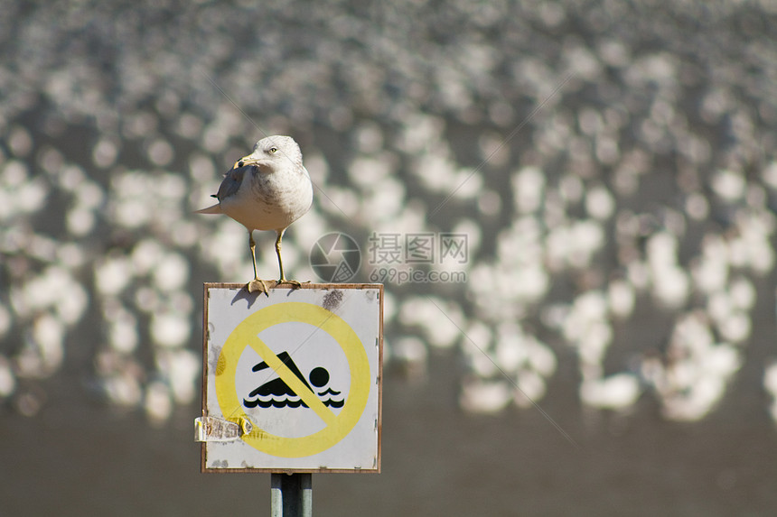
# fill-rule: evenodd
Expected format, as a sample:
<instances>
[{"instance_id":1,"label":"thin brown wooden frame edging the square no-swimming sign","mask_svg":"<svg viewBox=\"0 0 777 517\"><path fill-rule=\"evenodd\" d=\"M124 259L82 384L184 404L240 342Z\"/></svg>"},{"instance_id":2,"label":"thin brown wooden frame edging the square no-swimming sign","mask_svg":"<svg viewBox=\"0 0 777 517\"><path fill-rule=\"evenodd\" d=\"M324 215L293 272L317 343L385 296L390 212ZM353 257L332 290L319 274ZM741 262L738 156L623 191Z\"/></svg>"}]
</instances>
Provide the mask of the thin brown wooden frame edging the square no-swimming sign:
<instances>
[{"instance_id":1,"label":"thin brown wooden frame edging the square no-swimming sign","mask_svg":"<svg viewBox=\"0 0 777 517\"><path fill-rule=\"evenodd\" d=\"M277 287L276 282L267 282L267 283L270 284L269 285L270 291L287 291L287 292L296 291L296 290L322 290L322 291L375 290L375 291L379 291L379 294L378 294L379 321L378 321L378 336L377 336L378 364L377 364L377 379L375 379L375 382L377 383L376 402L378 405L377 421L375 424L375 428L377 432L377 449L376 449L375 465L372 468L355 467L355 466L352 468L344 468L344 467L329 468L326 466L321 466L317 468L277 467L277 466L212 467L207 465L209 443L208 443L208 440L205 440L205 441L202 441L201 443L201 453L200 453L201 472L217 473L217 474L222 474L222 473L284 473L284 474L314 474L314 473L370 474L371 473L371 474L379 474L380 468L381 468L382 428L383 428L383 421L382 421L383 419L383 416L382 416L382 412L383 412L383 401L382 401L383 399L383 300L384 300L383 284L379 284L379 283L303 283L301 287L297 288L292 286L287 287L286 285L281 285L280 287ZM245 298L247 300L257 300L257 297L259 296L262 296L262 297L266 296L264 293L258 293L258 292L248 293L245 287L246 287L246 284L244 283L233 283L233 282L203 283L202 391L201 391L201 396L202 396L201 413L203 418L209 417L208 400L209 400L209 389L211 389L211 387L209 386L209 371L210 371L209 369L212 368L212 365L209 365L210 291L211 290L237 291L237 294L239 295L240 298ZM288 292L288 294L291 294L291 292ZM265 310L265 309L268 309L269 307L273 307L273 306L270 305L265 307L264 309L259 309L259 310ZM246 319L249 319L249 318L251 317L248 316ZM244 321L246 319L244 319ZM218 393L219 391L217 389L216 394L218 395ZM314 455L311 455L311 456L314 456Z\"/></svg>"}]
</instances>

